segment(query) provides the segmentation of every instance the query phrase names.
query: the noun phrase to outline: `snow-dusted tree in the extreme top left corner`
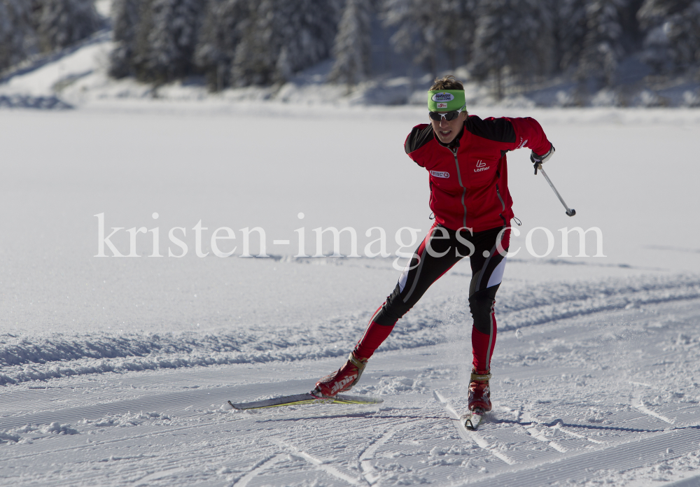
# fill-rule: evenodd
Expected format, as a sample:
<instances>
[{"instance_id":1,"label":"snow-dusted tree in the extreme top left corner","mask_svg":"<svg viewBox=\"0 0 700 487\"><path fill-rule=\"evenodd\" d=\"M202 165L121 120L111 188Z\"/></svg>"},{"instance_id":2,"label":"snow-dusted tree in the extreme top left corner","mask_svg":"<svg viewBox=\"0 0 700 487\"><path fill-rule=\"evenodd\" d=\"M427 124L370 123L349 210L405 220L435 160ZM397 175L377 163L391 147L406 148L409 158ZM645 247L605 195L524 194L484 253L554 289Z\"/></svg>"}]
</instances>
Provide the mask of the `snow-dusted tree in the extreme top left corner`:
<instances>
[{"instance_id":1,"label":"snow-dusted tree in the extreme top left corner","mask_svg":"<svg viewBox=\"0 0 700 487\"><path fill-rule=\"evenodd\" d=\"M0 0L0 73L34 50L30 6L26 0Z\"/></svg>"}]
</instances>

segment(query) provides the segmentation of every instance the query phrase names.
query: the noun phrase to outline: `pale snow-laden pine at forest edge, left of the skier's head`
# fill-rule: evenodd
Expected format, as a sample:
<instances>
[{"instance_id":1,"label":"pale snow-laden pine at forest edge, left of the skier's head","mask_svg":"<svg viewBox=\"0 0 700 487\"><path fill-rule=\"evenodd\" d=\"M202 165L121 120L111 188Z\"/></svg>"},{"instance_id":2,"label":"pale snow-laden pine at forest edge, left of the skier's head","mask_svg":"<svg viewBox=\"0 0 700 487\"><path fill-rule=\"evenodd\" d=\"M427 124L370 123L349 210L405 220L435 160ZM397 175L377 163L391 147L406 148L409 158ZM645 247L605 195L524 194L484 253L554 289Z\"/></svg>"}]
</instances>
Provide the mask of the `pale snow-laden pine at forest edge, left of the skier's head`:
<instances>
[{"instance_id":1,"label":"pale snow-laden pine at forest edge, left of the skier's head","mask_svg":"<svg viewBox=\"0 0 700 487\"><path fill-rule=\"evenodd\" d=\"M365 80L370 74L370 8L369 0L346 1L333 46L335 63L328 80L350 86Z\"/></svg>"}]
</instances>

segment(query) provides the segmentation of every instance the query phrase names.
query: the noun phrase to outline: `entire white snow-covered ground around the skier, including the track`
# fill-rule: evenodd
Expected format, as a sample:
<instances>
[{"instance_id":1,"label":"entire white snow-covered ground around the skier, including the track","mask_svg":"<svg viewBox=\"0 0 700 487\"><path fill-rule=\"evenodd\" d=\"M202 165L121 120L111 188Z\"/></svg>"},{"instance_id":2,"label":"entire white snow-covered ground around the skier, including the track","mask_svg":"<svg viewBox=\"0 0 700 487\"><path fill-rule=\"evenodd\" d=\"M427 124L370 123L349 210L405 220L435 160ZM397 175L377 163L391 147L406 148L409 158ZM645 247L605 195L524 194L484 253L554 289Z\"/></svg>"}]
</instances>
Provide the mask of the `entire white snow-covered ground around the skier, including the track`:
<instances>
[{"instance_id":1,"label":"entire white snow-covered ground around the skier, including the track","mask_svg":"<svg viewBox=\"0 0 700 487\"><path fill-rule=\"evenodd\" d=\"M402 150L425 110L78 103L79 80L95 78L66 76L85 59L0 86L15 100L50 99L42 90L64 79L80 106L0 110L0 484L699 484L700 111L474 110L537 118L556 146L545 169L577 210L564 214L525 150L508 155L523 225L498 292L495 407L479 432L456 421L470 362L467 262L370 361L355 392L382 397L378 407L241 413L224 404L306 392L336 369L393 289L395 233L431 224L425 171ZM139 257L95 257L100 214L105 236L122 228L111 241L123 254L127 230L146 228ZM589 257L576 257L575 234L563 255L559 229L575 226L601 230L605 257L593 256L593 232ZM219 227L235 232L218 241L237 247L232 257L214 255ZM270 257L239 257L246 227L265 231ZM295 230L314 255L318 227L353 227L360 257L295 257ZM386 230L391 257L367 257L372 227ZM526 248L533 232L533 251L547 250L535 227L552 232L546 257ZM164 257L149 257L155 228ZM188 246L181 258L168 256L182 252L173 228L186 232L174 231ZM253 255L258 242L253 232Z\"/></svg>"}]
</instances>

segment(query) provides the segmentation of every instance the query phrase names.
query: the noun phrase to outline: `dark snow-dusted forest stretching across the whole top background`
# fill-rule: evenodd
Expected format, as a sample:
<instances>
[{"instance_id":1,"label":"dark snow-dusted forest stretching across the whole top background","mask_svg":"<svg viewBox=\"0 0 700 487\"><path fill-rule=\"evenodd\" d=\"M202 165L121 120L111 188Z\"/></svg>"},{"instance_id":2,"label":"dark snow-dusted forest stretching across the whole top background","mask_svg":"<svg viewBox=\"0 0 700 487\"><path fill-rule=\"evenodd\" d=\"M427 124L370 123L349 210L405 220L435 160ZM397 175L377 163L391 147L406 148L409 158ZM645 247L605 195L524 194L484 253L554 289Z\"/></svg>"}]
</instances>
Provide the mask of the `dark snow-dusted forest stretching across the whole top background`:
<instances>
[{"instance_id":1,"label":"dark snow-dusted forest stretching across the whole top background","mask_svg":"<svg viewBox=\"0 0 700 487\"><path fill-rule=\"evenodd\" d=\"M0 0L0 69L96 22L91 0ZM111 76L203 74L211 90L283 83L329 57L330 82L358 83L377 25L428 73L467 66L498 95L505 79L561 73L613 86L631 53L661 75L700 67L700 0L114 0L112 22Z\"/></svg>"}]
</instances>

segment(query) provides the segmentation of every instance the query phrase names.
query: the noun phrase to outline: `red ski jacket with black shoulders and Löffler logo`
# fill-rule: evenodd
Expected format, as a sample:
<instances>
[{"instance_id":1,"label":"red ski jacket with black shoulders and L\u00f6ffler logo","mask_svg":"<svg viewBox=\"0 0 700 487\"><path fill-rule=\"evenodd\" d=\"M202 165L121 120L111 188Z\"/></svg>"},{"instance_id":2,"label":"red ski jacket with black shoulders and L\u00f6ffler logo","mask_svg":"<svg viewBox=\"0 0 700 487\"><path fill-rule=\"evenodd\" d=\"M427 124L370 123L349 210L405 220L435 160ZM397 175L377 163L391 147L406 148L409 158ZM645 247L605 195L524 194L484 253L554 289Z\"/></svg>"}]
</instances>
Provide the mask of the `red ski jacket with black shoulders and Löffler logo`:
<instances>
[{"instance_id":1,"label":"red ski jacket with black shoulders and L\u00f6ffler logo","mask_svg":"<svg viewBox=\"0 0 700 487\"><path fill-rule=\"evenodd\" d=\"M408 156L430 173L430 209L450 230L482 232L513 218L505 153L527 147L545 154L552 147L533 118L470 115L454 141L441 143L433 126L413 127L404 143Z\"/></svg>"}]
</instances>

